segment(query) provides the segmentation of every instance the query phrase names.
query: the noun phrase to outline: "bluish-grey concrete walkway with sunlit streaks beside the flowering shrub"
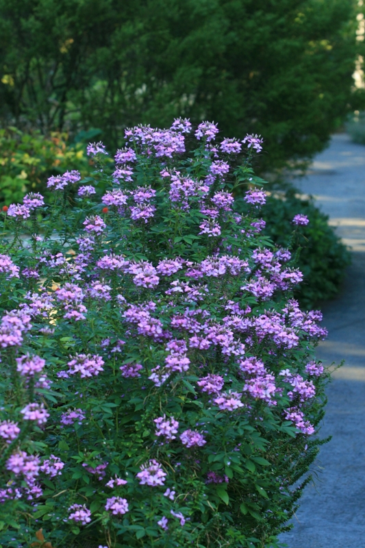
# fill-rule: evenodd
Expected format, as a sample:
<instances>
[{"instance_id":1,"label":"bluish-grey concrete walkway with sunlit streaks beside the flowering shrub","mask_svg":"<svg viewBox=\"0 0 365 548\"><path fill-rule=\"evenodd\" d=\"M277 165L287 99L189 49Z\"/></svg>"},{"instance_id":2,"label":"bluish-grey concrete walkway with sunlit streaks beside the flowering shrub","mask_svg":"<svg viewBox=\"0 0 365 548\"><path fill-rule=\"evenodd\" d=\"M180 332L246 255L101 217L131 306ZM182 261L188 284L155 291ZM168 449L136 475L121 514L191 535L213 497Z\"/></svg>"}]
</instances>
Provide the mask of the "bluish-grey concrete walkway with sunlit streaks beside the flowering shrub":
<instances>
[{"instance_id":1,"label":"bluish-grey concrete walkway with sunlit streaks beside the flowering shrub","mask_svg":"<svg viewBox=\"0 0 365 548\"><path fill-rule=\"evenodd\" d=\"M365 547L365 147L345 134L316 156L303 194L330 216L352 247L353 264L338 299L322 307L329 337L318 347L324 364L345 360L336 371L322 436L333 436L313 466L318 473L300 501L294 529L281 535L288 548Z\"/></svg>"}]
</instances>

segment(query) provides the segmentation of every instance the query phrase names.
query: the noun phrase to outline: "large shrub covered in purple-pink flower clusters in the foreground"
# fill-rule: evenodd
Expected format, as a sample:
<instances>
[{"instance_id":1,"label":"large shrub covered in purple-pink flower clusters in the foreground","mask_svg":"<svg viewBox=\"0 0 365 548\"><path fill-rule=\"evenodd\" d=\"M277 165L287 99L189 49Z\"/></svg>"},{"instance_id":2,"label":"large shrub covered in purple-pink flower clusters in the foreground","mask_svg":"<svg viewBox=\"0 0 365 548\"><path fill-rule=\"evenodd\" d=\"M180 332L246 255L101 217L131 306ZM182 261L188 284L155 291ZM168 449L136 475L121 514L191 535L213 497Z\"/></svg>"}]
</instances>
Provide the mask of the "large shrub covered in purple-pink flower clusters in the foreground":
<instances>
[{"instance_id":1,"label":"large shrub covered in purple-pink flower clusters in the foreground","mask_svg":"<svg viewBox=\"0 0 365 548\"><path fill-rule=\"evenodd\" d=\"M260 138L190 133L128 129L110 172L94 143L93 191L71 171L3 213L6 547L275 546L295 509L326 332L261 234Z\"/></svg>"}]
</instances>

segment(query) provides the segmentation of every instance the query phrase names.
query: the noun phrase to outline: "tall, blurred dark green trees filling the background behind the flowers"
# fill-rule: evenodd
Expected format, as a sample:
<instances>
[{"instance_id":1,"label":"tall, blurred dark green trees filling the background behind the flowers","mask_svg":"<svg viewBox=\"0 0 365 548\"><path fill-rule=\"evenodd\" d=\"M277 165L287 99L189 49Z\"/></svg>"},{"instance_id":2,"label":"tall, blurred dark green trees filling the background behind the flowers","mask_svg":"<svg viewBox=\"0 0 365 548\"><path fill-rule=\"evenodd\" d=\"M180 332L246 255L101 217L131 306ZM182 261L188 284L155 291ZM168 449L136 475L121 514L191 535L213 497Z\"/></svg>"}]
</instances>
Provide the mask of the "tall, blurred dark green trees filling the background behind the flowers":
<instances>
[{"instance_id":1,"label":"tall, blurred dark green trees filling the background behind the flowers","mask_svg":"<svg viewBox=\"0 0 365 548\"><path fill-rule=\"evenodd\" d=\"M0 0L3 120L100 127L214 119L270 170L323 149L351 101L355 0Z\"/></svg>"}]
</instances>

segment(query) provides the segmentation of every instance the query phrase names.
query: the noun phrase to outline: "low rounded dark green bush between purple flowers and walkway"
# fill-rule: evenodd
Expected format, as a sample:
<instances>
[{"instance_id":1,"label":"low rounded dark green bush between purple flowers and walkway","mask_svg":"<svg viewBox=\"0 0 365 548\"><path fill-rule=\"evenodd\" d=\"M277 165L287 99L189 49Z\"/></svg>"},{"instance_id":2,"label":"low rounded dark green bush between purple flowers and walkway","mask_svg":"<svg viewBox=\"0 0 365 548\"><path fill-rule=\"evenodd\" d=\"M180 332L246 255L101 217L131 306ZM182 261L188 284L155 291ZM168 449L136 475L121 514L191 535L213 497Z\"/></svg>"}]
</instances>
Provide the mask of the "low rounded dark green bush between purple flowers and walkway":
<instances>
[{"instance_id":1,"label":"low rounded dark green bush between purple flowers and walkway","mask_svg":"<svg viewBox=\"0 0 365 548\"><path fill-rule=\"evenodd\" d=\"M286 246L293 217L303 213L310 219L295 242L299 251L297 264L304 279L294 295L303 306L311 307L337 295L351 255L328 225L328 216L314 206L312 199L301 199L296 192L291 188L268 197L262 210L266 219L264 232L276 245Z\"/></svg>"}]
</instances>

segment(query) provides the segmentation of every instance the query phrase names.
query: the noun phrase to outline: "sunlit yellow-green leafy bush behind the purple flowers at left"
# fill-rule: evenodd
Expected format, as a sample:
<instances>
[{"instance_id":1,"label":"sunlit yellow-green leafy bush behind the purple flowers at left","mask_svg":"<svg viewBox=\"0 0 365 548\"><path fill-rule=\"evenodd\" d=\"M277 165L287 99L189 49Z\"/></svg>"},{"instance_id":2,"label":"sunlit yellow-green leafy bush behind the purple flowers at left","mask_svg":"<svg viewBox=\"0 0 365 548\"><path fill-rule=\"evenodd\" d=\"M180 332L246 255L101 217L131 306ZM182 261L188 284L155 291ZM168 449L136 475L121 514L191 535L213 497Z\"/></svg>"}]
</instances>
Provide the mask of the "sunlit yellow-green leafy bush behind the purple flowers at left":
<instances>
[{"instance_id":1,"label":"sunlit yellow-green leafy bush behind the purple flowers at left","mask_svg":"<svg viewBox=\"0 0 365 548\"><path fill-rule=\"evenodd\" d=\"M0 129L0 201L9 205L21 201L26 192L44 192L45 180L65 169L79 169L86 175L84 147L68 145L67 134L21 132L16 127Z\"/></svg>"}]
</instances>

